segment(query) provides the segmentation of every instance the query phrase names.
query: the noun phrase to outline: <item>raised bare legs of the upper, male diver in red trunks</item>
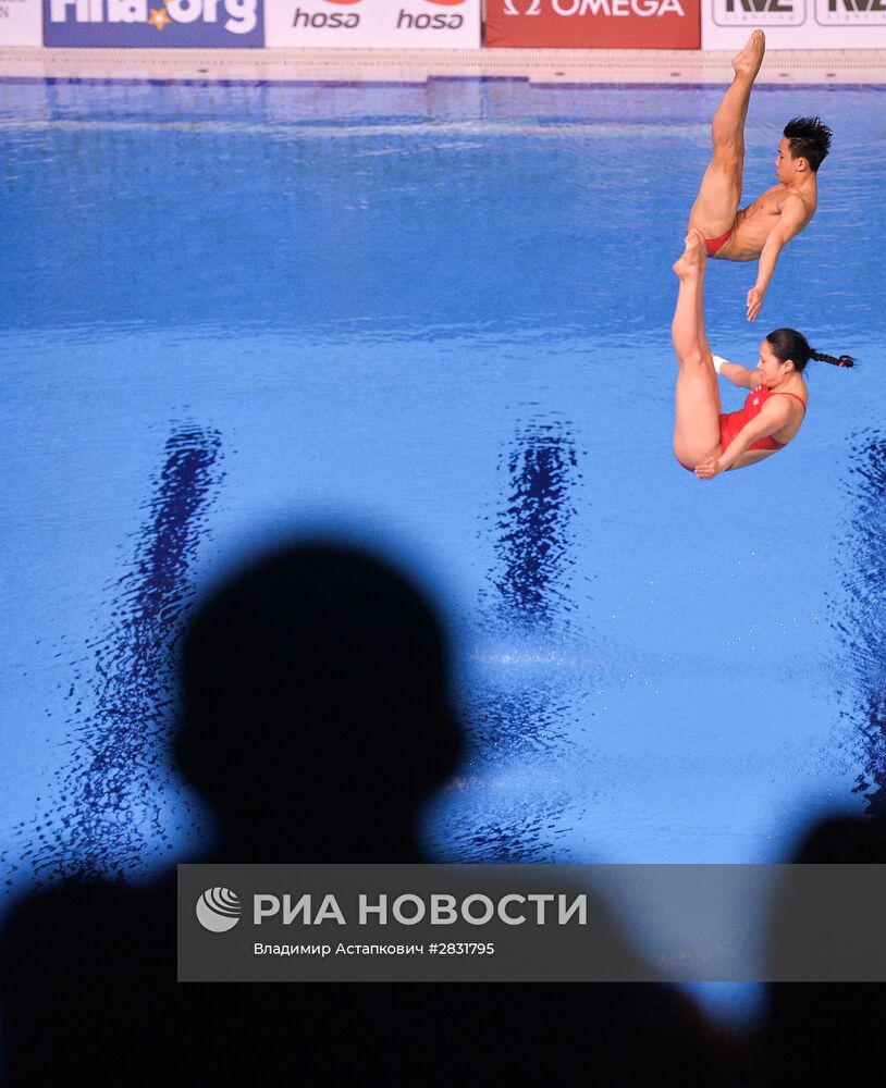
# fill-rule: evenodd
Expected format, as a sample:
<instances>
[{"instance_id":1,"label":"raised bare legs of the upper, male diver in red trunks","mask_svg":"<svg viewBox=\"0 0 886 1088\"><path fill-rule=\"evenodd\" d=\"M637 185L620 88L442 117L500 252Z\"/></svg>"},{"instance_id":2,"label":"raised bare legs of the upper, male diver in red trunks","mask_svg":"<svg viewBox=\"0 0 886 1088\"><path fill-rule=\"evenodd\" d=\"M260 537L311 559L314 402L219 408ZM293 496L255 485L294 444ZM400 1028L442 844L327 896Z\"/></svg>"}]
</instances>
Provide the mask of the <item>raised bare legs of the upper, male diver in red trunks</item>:
<instances>
[{"instance_id":1,"label":"raised bare legs of the upper, male diver in red trunks","mask_svg":"<svg viewBox=\"0 0 886 1088\"><path fill-rule=\"evenodd\" d=\"M711 122L713 154L689 215L689 225L705 238L721 237L735 223L745 171L745 121L765 49L763 32L754 30L733 60L735 78Z\"/></svg>"}]
</instances>

